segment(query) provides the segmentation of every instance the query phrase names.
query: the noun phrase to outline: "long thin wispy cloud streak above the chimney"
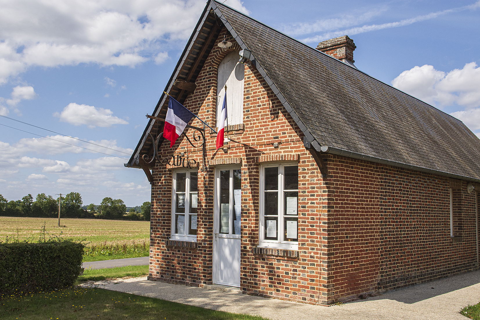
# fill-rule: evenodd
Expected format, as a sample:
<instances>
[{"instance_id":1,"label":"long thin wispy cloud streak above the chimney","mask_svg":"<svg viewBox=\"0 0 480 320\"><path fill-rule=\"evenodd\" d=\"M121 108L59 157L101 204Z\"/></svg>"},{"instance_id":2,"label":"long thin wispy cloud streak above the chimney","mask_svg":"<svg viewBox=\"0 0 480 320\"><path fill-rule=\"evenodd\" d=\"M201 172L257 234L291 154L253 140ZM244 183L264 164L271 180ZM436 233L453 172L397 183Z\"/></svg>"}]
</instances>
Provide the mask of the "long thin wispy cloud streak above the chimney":
<instances>
[{"instance_id":1,"label":"long thin wispy cloud streak above the chimney","mask_svg":"<svg viewBox=\"0 0 480 320\"><path fill-rule=\"evenodd\" d=\"M420 21L434 19L434 18L436 18L440 15L447 14L447 13L460 12L460 11L464 11L464 10L476 10L478 8L480 8L480 1L477 1L474 4L467 5L467 6L453 8L453 9L447 9L447 10L443 10L443 11L431 12L431 13L428 13L428 14L423 14L423 15L419 15L419 16L416 16L416 17L413 17L413 18L404 19L404 20L400 20L400 21L396 21L396 22L389 22L389 23L385 23L385 24L381 24L381 25L363 25L363 26L360 26L360 27L353 27L353 28L344 29L344 30L331 31L331 32L327 32L327 33L324 33L324 34L319 35L319 36L308 37L308 38L302 39L301 41L303 41L305 43L320 42L320 41L323 41L325 39L341 37L341 36L344 36L344 35L352 36L352 35L357 35L359 33L364 33L364 32L369 32L369 31L382 30L382 29L388 29L388 28L396 28L396 27L400 27L400 26L411 25L411 24L414 24L414 23L417 23L417 22L420 22ZM368 17L368 15L365 16L365 18L367 18L367 17ZM329 30L335 30L338 26L341 26L342 23L345 23L346 24L345 26L352 25L352 24L349 24L348 22L342 21L342 19L340 19L338 21L336 21L336 19L329 19L329 20L333 20L333 21L331 21L332 22L331 27L328 28L328 24L326 24L324 22L317 22L316 25L319 26L317 28L319 30L324 30L324 29L322 29L322 27L327 27ZM355 19L353 21L355 21ZM359 22L360 21L361 20L359 20ZM325 22L328 22L328 20L325 20ZM299 30L301 30L301 28L299 28ZM305 28L305 31L308 31L308 30L310 30L310 29Z\"/></svg>"}]
</instances>

